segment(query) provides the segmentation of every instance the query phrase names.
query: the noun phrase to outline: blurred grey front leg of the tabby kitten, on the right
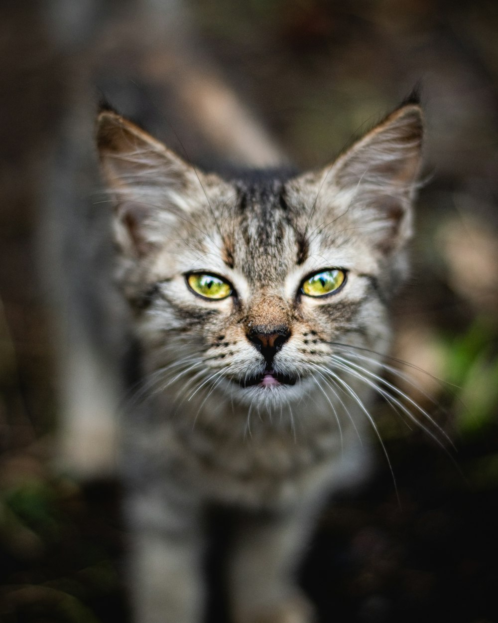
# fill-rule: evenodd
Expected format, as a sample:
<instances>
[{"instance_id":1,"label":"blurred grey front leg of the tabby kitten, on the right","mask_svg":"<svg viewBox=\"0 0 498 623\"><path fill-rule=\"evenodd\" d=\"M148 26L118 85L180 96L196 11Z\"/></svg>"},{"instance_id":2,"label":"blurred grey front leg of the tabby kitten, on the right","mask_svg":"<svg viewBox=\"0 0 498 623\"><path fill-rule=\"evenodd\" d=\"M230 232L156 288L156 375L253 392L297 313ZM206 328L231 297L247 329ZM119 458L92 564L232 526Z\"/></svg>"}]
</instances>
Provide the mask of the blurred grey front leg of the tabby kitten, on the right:
<instances>
[{"instance_id":1,"label":"blurred grey front leg of the tabby kitten, on the right","mask_svg":"<svg viewBox=\"0 0 498 623\"><path fill-rule=\"evenodd\" d=\"M229 561L235 623L311 623L314 609L296 584L314 512L250 516L238 526Z\"/></svg>"}]
</instances>

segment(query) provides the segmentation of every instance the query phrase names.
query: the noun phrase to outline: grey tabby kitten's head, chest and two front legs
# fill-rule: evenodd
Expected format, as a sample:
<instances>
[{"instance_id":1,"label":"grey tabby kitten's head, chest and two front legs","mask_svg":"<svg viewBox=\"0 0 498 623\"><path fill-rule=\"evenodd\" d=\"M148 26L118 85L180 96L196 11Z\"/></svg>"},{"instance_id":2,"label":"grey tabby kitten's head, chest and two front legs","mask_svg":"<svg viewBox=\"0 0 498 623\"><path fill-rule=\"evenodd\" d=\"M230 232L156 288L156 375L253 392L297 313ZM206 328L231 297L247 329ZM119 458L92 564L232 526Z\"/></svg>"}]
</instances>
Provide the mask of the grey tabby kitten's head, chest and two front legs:
<instances>
[{"instance_id":1,"label":"grey tabby kitten's head, chest and two front legs","mask_svg":"<svg viewBox=\"0 0 498 623\"><path fill-rule=\"evenodd\" d=\"M422 138L411 98L326 168L222 176L98 115L141 371L123 450L138 623L202 621L204 517L218 505L238 518L233 623L315 620L296 571L327 497L369 469Z\"/></svg>"}]
</instances>

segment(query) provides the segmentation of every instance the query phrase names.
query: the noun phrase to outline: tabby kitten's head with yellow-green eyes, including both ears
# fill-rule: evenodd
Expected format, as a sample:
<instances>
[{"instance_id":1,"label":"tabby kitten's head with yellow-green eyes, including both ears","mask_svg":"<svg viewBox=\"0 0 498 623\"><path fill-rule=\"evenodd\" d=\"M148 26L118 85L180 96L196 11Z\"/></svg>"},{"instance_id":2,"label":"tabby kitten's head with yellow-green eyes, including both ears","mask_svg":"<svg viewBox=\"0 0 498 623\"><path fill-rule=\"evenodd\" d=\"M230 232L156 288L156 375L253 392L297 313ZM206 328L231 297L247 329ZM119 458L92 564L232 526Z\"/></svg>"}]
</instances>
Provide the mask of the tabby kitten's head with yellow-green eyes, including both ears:
<instances>
[{"instance_id":1,"label":"tabby kitten's head with yellow-green eyes, including both ears","mask_svg":"<svg viewBox=\"0 0 498 623\"><path fill-rule=\"evenodd\" d=\"M118 281L158 386L278 404L385 351L422 133L408 103L326 168L222 179L101 112Z\"/></svg>"}]
</instances>

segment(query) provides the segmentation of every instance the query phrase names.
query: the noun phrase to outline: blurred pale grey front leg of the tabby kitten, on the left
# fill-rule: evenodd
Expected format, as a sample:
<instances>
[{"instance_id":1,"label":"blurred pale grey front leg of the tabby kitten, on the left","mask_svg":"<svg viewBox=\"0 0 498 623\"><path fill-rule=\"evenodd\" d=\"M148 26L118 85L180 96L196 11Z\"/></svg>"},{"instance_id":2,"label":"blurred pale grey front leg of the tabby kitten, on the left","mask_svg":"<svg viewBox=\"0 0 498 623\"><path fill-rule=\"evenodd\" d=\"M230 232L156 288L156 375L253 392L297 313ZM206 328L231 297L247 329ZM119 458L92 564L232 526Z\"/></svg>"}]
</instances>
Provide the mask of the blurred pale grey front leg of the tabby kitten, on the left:
<instances>
[{"instance_id":1,"label":"blurred pale grey front leg of the tabby kitten, on the left","mask_svg":"<svg viewBox=\"0 0 498 623\"><path fill-rule=\"evenodd\" d=\"M134 623L199 623L204 610L200 509L156 495L126 503L129 589Z\"/></svg>"}]
</instances>

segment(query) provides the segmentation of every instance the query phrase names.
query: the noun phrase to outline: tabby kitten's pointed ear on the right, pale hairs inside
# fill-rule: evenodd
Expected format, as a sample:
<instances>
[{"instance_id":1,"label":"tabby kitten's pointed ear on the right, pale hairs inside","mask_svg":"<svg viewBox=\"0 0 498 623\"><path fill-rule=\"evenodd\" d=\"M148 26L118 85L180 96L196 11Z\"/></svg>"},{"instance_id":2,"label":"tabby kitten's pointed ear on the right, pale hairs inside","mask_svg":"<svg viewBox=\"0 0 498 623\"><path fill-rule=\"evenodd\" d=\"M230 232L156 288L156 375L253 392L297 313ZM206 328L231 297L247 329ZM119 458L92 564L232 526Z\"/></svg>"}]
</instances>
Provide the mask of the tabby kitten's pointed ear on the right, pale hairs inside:
<instances>
[{"instance_id":1,"label":"tabby kitten's pointed ear on the right, pale hairs inside","mask_svg":"<svg viewBox=\"0 0 498 623\"><path fill-rule=\"evenodd\" d=\"M344 212L381 252L402 248L411 236L422 138L420 106L398 108L315 176L319 203Z\"/></svg>"}]
</instances>

